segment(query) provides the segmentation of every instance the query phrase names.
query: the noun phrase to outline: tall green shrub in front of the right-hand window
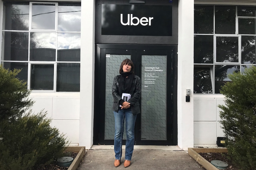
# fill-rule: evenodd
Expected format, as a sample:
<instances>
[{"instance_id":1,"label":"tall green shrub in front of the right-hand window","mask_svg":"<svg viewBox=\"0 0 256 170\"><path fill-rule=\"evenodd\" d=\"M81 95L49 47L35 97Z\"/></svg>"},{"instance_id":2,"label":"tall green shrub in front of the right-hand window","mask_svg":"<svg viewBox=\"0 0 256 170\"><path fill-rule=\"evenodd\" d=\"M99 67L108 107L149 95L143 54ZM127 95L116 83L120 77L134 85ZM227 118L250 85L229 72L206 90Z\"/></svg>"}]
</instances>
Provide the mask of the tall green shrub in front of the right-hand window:
<instances>
[{"instance_id":1,"label":"tall green shrub in front of the right-hand window","mask_svg":"<svg viewBox=\"0 0 256 170\"><path fill-rule=\"evenodd\" d=\"M220 90L225 106L219 105L230 159L240 169L256 169L256 67L243 74L228 75L232 82Z\"/></svg>"}]
</instances>

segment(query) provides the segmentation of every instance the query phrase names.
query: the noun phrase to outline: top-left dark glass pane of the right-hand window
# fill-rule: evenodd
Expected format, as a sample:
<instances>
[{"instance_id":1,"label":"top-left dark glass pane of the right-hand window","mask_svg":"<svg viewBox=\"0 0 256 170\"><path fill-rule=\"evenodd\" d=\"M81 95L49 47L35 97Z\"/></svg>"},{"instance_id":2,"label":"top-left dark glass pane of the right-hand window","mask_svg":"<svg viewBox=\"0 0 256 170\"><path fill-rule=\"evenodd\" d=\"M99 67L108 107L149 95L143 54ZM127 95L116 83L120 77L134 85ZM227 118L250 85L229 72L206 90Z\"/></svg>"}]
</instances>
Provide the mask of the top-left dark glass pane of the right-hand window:
<instances>
[{"instance_id":1,"label":"top-left dark glass pane of the right-hand window","mask_svg":"<svg viewBox=\"0 0 256 170\"><path fill-rule=\"evenodd\" d=\"M213 34L213 6L195 6L194 32L195 34Z\"/></svg>"}]
</instances>

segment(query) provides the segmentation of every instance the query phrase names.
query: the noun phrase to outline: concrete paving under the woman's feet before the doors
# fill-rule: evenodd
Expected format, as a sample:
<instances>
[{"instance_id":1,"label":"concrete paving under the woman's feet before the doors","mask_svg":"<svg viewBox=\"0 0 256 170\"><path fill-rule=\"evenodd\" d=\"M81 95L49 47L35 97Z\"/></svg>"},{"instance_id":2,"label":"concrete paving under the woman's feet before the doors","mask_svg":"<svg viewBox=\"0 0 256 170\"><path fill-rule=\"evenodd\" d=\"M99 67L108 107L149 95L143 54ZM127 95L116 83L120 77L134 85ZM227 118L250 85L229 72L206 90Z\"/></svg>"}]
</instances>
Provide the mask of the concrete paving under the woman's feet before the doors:
<instances>
[{"instance_id":1,"label":"concrete paving under the woman's feet before the doors","mask_svg":"<svg viewBox=\"0 0 256 170\"><path fill-rule=\"evenodd\" d=\"M114 166L113 149L87 150L78 170L205 170L186 151L135 149L131 166L124 168L124 153L121 165Z\"/></svg>"}]
</instances>

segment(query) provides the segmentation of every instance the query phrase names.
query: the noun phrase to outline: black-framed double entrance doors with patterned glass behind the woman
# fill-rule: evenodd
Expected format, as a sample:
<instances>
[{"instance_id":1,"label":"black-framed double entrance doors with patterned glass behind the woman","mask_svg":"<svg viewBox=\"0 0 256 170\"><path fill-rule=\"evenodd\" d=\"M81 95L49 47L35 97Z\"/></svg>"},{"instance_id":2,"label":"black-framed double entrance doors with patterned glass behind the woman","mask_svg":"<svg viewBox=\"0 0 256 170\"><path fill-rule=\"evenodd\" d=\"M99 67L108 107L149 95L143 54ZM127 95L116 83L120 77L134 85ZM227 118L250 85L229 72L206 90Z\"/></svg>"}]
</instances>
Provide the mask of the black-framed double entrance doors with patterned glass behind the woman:
<instances>
[{"instance_id":1,"label":"black-framed double entrance doors with patterned glass behind the woman","mask_svg":"<svg viewBox=\"0 0 256 170\"><path fill-rule=\"evenodd\" d=\"M128 58L134 63L135 75L141 78L141 114L135 123L135 145L177 145L177 136L173 136L177 134L172 100L173 50L127 47L130 48L98 48L96 69L99 73L95 77L95 89L99 90L95 90L95 94L99 98L95 98L94 144L113 145L113 78L119 75L121 62Z\"/></svg>"}]
</instances>

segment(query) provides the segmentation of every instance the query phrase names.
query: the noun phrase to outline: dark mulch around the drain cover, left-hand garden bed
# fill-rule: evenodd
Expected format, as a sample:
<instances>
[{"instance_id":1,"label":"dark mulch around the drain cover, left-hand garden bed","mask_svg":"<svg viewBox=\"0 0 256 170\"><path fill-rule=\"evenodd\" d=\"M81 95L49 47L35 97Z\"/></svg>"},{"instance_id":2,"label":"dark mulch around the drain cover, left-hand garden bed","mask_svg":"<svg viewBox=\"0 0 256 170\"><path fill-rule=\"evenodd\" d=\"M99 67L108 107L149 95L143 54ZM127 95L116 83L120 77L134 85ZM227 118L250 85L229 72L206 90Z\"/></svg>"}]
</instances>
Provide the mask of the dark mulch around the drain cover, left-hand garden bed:
<instances>
[{"instance_id":1,"label":"dark mulch around the drain cover, left-hand garden bed","mask_svg":"<svg viewBox=\"0 0 256 170\"><path fill-rule=\"evenodd\" d=\"M75 159L78 153L76 152L67 152L65 156L70 156ZM69 167L61 167L57 165L57 159L53 161L50 165L39 166L33 170L67 170Z\"/></svg>"}]
</instances>

